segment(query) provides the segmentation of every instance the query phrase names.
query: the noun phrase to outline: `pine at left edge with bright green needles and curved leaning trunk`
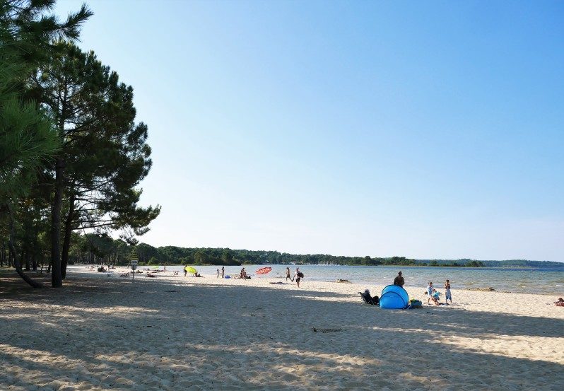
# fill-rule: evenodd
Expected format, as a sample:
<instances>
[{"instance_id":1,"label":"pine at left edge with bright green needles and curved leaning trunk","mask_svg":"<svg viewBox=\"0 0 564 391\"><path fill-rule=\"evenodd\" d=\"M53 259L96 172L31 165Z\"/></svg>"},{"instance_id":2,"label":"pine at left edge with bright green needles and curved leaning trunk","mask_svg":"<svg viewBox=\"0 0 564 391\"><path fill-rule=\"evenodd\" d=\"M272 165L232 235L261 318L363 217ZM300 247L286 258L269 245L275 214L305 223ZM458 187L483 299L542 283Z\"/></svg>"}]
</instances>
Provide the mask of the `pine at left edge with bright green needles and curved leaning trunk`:
<instances>
[{"instance_id":1,"label":"pine at left edge with bright green needles and curved leaning trunk","mask_svg":"<svg viewBox=\"0 0 564 391\"><path fill-rule=\"evenodd\" d=\"M28 97L26 81L50 57L50 40L78 37L81 23L91 15L82 6L59 23L45 15L53 6L54 0L0 0L0 211L8 217L8 249L16 271L32 286L40 284L23 273L16 255L14 204L61 145L51 118Z\"/></svg>"}]
</instances>

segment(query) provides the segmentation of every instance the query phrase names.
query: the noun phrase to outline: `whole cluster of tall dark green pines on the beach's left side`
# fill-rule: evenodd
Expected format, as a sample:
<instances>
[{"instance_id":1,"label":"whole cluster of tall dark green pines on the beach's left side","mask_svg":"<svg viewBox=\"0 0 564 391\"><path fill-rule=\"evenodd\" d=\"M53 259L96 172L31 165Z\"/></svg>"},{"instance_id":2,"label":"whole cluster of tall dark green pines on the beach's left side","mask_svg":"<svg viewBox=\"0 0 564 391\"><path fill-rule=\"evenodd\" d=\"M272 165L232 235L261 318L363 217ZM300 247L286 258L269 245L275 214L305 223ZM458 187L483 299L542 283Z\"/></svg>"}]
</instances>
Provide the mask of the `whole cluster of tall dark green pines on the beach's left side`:
<instances>
[{"instance_id":1,"label":"whole cluster of tall dark green pines on the beach's left side","mask_svg":"<svg viewBox=\"0 0 564 391\"><path fill-rule=\"evenodd\" d=\"M0 0L0 265L40 287L25 272L45 264L58 288L79 232L134 245L160 206L139 206L152 161L133 88L76 45L86 4L59 21L54 3Z\"/></svg>"}]
</instances>

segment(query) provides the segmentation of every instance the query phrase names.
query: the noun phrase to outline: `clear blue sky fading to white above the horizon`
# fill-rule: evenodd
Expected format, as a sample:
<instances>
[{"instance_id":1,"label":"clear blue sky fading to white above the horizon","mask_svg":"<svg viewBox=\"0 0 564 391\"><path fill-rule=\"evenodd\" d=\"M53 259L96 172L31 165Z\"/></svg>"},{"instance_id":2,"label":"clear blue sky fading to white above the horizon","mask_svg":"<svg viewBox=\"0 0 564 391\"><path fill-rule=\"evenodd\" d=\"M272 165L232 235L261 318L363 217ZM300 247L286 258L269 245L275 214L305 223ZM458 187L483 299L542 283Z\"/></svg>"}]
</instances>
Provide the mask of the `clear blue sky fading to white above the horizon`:
<instances>
[{"instance_id":1,"label":"clear blue sky fading to white above the horizon","mask_svg":"<svg viewBox=\"0 0 564 391\"><path fill-rule=\"evenodd\" d=\"M87 3L148 124L142 242L564 261L563 2Z\"/></svg>"}]
</instances>

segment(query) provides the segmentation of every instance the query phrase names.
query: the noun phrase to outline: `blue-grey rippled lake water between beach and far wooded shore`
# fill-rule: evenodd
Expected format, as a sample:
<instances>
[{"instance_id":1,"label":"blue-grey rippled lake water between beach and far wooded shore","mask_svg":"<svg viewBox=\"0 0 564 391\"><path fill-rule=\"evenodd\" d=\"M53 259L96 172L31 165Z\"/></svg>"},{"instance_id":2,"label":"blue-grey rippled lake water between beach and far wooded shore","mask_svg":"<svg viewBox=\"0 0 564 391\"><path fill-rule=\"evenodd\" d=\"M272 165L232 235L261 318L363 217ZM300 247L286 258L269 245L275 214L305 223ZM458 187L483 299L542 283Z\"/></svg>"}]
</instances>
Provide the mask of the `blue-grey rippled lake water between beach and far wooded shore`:
<instances>
[{"instance_id":1,"label":"blue-grey rippled lake water between beach and far wooded shore","mask_svg":"<svg viewBox=\"0 0 564 391\"><path fill-rule=\"evenodd\" d=\"M290 267L293 276L295 265L245 265L247 274L252 278L264 278L254 274L257 269L269 266L272 271L266 274L269 278L283 278L286 267ZM496 291L515 293L546 293L558 297L564 296L564 265L562 267L397 267L397 266L334 266L334 265L298 265L305 274L305 280L336 281L348 279L355 284L363 284L367 288L372 285L392 284L397 272L401 270L406 286L425 288L429 281L442 288L445 279L450 280L456 288L494 288ZM151 268L151 267L150 267ZM216 275L216 266L194 266L200 274ZM239 274L242 267L225 267L225 274ZM146 267L140 267L146 269ZM162 269L162 267L160 267ZM168 266L167 271L182 271L182 266ZM221 267L220 267L221 269Z\"/></svg>"}]
</instances>

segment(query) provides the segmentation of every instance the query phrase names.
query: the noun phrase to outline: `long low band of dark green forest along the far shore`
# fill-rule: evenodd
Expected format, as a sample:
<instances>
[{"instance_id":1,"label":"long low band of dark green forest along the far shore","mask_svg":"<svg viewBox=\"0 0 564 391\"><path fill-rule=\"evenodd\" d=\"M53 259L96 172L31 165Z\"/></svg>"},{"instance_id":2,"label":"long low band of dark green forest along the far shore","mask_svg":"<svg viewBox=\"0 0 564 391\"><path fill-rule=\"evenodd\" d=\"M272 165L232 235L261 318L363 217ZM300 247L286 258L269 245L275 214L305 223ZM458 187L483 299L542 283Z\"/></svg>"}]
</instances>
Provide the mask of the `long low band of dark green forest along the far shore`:
<instances>
[{"instance_id":1,"label":"long low band of dark green forest along the far shore","mask_svg":"<svg viewBox=\"0 0 564 391\"><path fill-rule=\"evenodd\" d=\"M153 247L146 243L128 244L124 240L94 233L73 234L69 249L69 264L115 264L126 266L132 257L143 265L224 265L241 264L339 264L339 265L401 265L437 267L562 267L560 262L510 259L502 261L476 259L410 259L406 257L345 257L325 254L296 255L265 250L233 250L230 248ZM44 259L48 259L45 254ZM6 262L4 250L0 262Z\"/></svg>"}]
</instances>

